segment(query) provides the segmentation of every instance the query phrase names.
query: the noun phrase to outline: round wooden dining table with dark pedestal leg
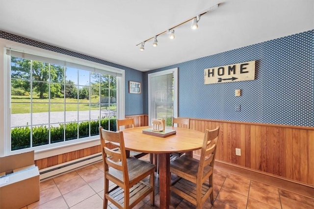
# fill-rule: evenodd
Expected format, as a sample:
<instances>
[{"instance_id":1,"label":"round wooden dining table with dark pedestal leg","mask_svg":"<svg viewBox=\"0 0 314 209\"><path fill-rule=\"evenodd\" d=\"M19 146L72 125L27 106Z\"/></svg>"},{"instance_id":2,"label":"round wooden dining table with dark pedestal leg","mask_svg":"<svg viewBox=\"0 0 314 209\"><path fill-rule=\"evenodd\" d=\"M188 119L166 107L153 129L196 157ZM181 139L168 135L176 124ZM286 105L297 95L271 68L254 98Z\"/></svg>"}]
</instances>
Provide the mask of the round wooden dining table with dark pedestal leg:
<instances>
[{"instance_id":1,"label":"round wooden dining table with dark pedestal leg","mask_svg":"<svg viewBox=\"0 0 314 209\"><path fill-rule=\"evenodd\" d=\"M158 154L160 209L169 209L170 205L170 153L185 152L193 155L193 150L202 148L204 133L192 129L166 127L176 130L176 134L161 138L143 134L142 130L150 126L124 129L126 150Z\"/></svg>"}]
</instances>

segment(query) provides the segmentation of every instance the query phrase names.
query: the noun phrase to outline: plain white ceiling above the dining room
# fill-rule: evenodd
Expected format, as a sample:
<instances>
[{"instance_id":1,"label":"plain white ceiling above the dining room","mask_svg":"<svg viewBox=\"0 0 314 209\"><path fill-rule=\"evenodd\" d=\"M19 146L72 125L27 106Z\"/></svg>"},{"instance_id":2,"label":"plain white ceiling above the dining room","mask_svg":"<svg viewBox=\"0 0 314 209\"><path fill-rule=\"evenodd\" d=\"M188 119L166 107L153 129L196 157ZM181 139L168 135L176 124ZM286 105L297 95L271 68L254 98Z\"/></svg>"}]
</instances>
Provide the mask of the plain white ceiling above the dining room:
<instances>
[{"instance_id":1,"label":"plain white ceiling above the dining room","mask_svg":"<svg viewBox=\"0 0 314 209\"><path fill-rule=\"evenodd\" d=\"M209 7L140 51L140 42ZM0 0L0 30L136 70L153 70L314 29L314 0Z\"/></svg>"}]
</instances>

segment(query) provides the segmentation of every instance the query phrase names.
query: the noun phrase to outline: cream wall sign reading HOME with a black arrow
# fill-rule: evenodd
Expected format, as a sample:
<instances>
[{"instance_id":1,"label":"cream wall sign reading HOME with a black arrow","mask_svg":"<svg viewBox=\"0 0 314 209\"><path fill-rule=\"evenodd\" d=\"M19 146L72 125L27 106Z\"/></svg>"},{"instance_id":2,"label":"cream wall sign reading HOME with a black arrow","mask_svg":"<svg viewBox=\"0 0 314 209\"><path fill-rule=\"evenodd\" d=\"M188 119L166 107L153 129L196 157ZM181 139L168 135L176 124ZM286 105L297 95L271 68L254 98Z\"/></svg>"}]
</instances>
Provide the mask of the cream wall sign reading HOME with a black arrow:
<instances>
[{"instance_id":1,"label":"cream wall sign reading HOME with a black arrow","mask_svg":"<svg viewBox=\"0 0 314 209\"><path fill-rule=\"evenodd\" d=\"M207 68L204 84L248 81L255 79L255 60L251 62Z\"/></svg>"}]
</instances>

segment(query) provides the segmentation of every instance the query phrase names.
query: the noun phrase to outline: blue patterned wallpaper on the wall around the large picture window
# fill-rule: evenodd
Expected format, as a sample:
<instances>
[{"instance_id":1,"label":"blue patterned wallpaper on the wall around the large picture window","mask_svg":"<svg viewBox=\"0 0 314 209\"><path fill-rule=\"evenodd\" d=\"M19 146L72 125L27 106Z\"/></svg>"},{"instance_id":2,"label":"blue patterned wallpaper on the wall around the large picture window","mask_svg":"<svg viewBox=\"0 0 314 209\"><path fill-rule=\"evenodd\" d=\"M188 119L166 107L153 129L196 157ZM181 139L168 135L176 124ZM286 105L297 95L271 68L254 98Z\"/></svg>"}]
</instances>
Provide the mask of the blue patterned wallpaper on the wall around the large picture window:
<instances>
[{"instance_id":1,"label":"blue patterned wallpaper on the wall around the large picture window","mask_svg":"<svg viewBox=\"0 0 314 209\"><path fill-rule=\"evenodd\" d=\"M14 42L18 42L18 43L22 43L22 44L26 44L29 46L35 46L38 48L43 48L43 49L47 49L50 51L54 51L54 52L58 52L61 54L66 54L69 56L73 56L73 57L77 57L80 59L84 59L84 60L88 60L91 62L95 62L95 63L100 63L106 66L111 66L114 68L119 68L122 70L125 70L125 93L126 93L126 98L125 98L125 115L126 116L132 116L132 115L141 115L143 114L143 108L144 108L144 94L131 94L129 93L129 80L131 81L136 81L136 82L143 82L143 76L142 76L142 72L139 70L134 70L122 65L118 65L115 63L111 63L102 59L98 59L95 57L91 57L91 56L87 56L84 54L80 54L74 51L70 51L70 50L66 50L60 47L56 47L56 46L52 46L52 45L48 45L48 44L44 44L38 41L34 41L31 39L27 39L21 36L17 36L11 33L7 33L4 31L0 30L0 38L3 39L7 39L10 41L14 41Z\"/></svg>"}]
</instances>

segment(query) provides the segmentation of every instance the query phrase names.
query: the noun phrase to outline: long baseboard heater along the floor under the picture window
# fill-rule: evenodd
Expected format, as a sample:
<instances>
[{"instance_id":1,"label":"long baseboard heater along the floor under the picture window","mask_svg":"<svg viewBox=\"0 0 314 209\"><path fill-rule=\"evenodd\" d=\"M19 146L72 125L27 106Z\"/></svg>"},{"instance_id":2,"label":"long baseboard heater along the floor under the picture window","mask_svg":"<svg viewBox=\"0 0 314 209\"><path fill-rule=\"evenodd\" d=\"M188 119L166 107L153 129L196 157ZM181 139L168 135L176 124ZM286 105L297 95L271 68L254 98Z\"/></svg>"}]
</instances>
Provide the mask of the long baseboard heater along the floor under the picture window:
<instances>
[{"instance_id":1,"label":"long baseboard heater along the floor under the picture window","mask_svg":"<svg viewBox=\"0 0 314 209\"><path fill-rule=\"evenodd\" d=\"M86 166L88 164L97 163L103 160L102 153L97 153L94 155L79 158L77 160L69 161L66 163L61 163L48 168L39 170L40 180L52 178L63 173L69 172L71 170L78 169L79 167Z\"/></svg>"}]
</instances>

